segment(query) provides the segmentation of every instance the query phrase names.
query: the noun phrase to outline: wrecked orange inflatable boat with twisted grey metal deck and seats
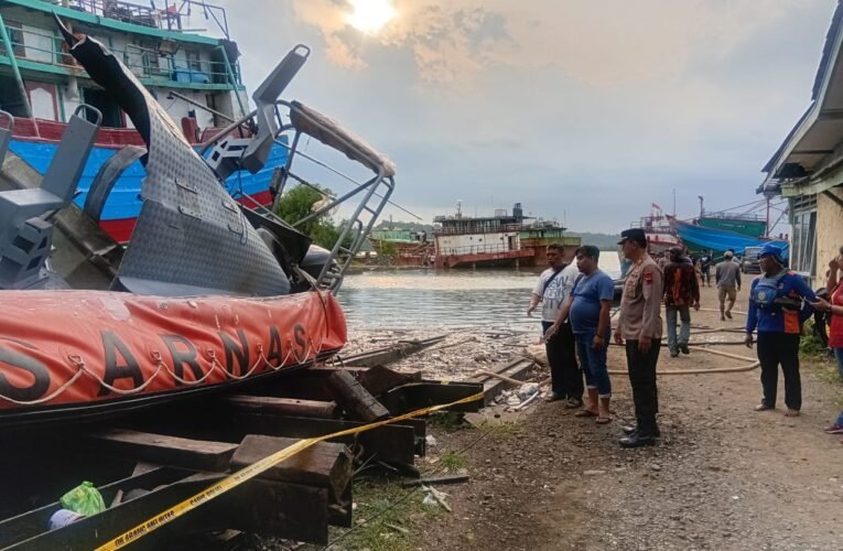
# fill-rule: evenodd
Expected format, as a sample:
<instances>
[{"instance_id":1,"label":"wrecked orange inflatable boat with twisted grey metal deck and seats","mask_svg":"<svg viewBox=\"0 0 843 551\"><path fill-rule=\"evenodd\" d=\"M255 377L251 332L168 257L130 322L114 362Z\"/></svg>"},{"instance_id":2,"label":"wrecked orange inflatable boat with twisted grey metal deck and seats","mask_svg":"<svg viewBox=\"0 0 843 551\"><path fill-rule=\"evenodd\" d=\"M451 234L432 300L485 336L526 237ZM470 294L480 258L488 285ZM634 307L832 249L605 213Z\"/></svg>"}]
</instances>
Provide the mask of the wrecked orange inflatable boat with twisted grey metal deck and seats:
<instances>
[{"instance_id":1,"label":"wrecked orange inflatable boat with twisted grey metal deck and seats","mask_svg":"<svg viewBox=\"0 0 843 551\"><path fill-rule=\"evenodd\" d=\"M389 201L395 166L333 119L279 99L310 50L288 53L255 93L257 108L202 156L119 56L56 23L69 54L143 141L142 205L123 248L74 204L102 120L90 105L69 117L43 177L0 192L0 429L221 391L336 354L346 326L334 295ZM253 136L239 138L244 126ZM293 170L294 159L310 158L296 148L302 136L374 173L296 223L358 198L329 251L260 205L235 202L220 185L235 170L264 165L284 132L294 145L282 188L287 179L304 182ZM11 134L0 129L0 154L11 155L3 184L25 173L18 166L25 161L6 151ZM90 193L105 202L114 177L94 185ZM82 266L96 276L73 285Z\"/></svg>"}]
</instances>

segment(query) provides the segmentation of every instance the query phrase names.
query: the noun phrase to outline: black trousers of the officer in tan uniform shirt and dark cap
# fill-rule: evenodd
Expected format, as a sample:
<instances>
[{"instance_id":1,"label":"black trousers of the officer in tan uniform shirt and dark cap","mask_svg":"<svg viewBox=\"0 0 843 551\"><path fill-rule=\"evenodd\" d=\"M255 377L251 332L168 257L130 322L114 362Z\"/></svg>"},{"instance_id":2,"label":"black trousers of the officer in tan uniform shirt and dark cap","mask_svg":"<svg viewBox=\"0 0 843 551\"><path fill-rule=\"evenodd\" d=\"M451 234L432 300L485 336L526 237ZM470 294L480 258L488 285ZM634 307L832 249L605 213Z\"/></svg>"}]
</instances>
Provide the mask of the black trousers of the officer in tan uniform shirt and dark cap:
<instances>
[{"instance_id":1,"label":"black trousers of the officer in tan uniform shirt and dark cap","mask_svg":"<svg viewBox=\"0 0 843 551\"><path fill-rule=\"evenodd\" d=\"M647 354L638 349L638 341L626 342L626 363L629 383L633 387L635 418L638 432L652 436L656 432L656 413L659 412L659 391L656 385L656 365L659 363L661 339L653 338Z\"/></svg>"}]
</instances>

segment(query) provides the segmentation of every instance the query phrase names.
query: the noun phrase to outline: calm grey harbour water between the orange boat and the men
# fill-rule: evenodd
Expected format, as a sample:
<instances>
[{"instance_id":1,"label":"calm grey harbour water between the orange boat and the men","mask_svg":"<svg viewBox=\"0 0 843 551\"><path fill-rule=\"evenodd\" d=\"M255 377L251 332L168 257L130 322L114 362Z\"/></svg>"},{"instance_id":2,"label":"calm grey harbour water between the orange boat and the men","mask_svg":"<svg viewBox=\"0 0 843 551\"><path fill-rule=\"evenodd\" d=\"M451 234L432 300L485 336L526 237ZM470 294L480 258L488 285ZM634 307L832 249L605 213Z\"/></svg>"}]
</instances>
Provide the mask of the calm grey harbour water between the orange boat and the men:
<instances>
[{"instance_id":1,"label":"calm grey harbour water between the orange boat and the men","mask_svg":"<svg viewBox=\"0 0 843 551\"><path fill-rule=\"evenodd\" d=\"M617 255L604 252L601 267L617 277ZM338 299L353 329L538 331L526 311L540 271L372 270L347 276Z\"/></svg>"}]
</instances>

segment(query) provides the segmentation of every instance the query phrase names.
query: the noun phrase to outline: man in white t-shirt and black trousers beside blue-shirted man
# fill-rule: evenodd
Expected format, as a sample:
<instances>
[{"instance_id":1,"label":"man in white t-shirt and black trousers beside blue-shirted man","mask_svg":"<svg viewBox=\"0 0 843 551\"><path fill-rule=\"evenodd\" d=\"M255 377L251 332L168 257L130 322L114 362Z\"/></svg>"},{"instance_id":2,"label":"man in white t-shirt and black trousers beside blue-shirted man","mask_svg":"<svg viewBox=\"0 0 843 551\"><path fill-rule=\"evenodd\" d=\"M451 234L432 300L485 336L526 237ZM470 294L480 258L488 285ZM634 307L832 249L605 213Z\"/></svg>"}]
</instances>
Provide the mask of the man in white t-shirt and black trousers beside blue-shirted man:
<instances>
[{"instance_id":1,"label":"man in white t-shirt and black trousers beside blue-shirted man","mask_svg":"<svg viewBox=\"0 0 843 551\"><path fill-rule=\"evenodd\" d=\"M565 263L565 249L559 244L547 248L550 268L539 276L539 281L530 296L527 315L531 315L541 303L542 335L559 318L559 312L568 300L574 280L580 276L576 264ZM576 345L571 324L560 324L559 331L544 341L550 364L551 392L548 401L565 400L565 408L579 408L583 404L583 375L576 364Z\"/></svg>"}]
</instances>

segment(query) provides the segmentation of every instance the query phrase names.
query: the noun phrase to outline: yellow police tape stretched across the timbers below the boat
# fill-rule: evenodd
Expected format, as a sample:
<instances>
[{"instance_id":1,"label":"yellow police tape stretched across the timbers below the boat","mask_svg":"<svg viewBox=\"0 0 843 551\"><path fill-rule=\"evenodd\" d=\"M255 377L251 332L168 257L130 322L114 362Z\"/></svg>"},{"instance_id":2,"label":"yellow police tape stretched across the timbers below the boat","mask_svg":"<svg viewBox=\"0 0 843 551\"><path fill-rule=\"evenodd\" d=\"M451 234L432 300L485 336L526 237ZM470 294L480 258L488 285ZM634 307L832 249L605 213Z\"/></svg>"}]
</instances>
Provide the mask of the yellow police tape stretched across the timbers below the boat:
<instances>
[{"instance_id":1,"label":"yellow police tape stretched across the timbers below the boat","mask_svg":"<svg viewBox=\"0 0 843 551\"><path fill-rule=\"evenodd\" d=\"M199 491L195 496L192 496L185 499L184 501L177 505L174 505L170 509L159 515L155 515L154 517L150 518L145 522L142 522L136 526L134 528L132 528L131 530L121 533L120 536L112 539L111 541L98 547L97 551L100 551L100 550L110 551L114 549L122 549L126 545L138 541L140 538L147 536L153 530L156 530L161 528L162 526L166 525L167 522L171 522L177 519L179 517L186 514L187 511L195 509L202 504L205 504L208 500L221 494L225 494L226 491L245 483L249 478L253 478L258 476L259 474L272 467L273 465L287 460L288 457L292 457L293 455L300 452L303 452L304 450L307 450L313 444L316 444L317 442L322 442L323 440L329 440L329 439L335 439L338 436L346 436L349 434L357 434L360 432L370 431L372 429L377 429L378 426L383 426L385 424L396 423L399 421L403 421L406 419L412 419L415 417L432 413L434 411L440 411L443 409L452 408L454 406L458 406L461 403L468 403L476 400L483 400L483 392L472 395L467 398L463 398L462 400L457 400L455 402L443 403L441 406L432 406L430 408L422 408L420 410L411 411L410 413L404 413L403 415L398 415L395 418L387 419L385 421L378 421L364 426L346 429L344 431L334 432L332 434L325 434L324 436L316 436L312 439L300 440L295 444L284 447L283 450L280 450L268 457L264 457L256 463L252 463L248 467L245 467L238 471L237 473L233 474L231 476L224 478L223 480L219 480L213 486L204 489L203 491Z\"/></svg>"}]
</instances>

